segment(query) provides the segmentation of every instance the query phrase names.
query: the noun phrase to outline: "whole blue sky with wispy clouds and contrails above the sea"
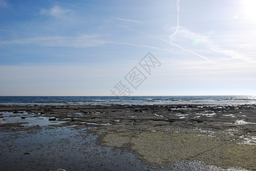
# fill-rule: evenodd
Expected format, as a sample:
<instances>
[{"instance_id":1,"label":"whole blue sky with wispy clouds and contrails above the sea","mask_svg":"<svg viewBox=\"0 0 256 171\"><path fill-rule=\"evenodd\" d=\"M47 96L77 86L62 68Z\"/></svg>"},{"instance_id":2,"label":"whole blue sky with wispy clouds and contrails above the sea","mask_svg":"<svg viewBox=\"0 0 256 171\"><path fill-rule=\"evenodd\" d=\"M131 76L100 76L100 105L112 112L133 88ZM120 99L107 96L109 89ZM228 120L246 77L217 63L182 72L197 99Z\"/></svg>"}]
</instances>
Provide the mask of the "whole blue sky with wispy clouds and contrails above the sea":
<instances>
[{"instance_id":1,"label":"whole blue sky with wispy clouds and contrails above the sea","mask_svg":"<svg viewBox=\"0 0 256 171\"><path fill-rule=\"evenodd\" d=\"M256 95L254 9L0 0L0 96Z\"/></svg>"}]
</instances>

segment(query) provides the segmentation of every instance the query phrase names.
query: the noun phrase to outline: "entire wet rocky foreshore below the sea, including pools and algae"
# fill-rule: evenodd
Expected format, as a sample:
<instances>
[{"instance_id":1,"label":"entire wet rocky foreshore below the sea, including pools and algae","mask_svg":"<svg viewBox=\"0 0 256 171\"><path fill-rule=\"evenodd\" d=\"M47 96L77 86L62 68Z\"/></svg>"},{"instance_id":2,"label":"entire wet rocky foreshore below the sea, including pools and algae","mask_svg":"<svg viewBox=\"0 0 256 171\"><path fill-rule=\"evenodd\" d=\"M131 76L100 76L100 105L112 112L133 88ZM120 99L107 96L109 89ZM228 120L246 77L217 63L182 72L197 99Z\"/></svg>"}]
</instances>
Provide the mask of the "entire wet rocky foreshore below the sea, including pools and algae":
<instances>
[{"instance_id":1,"label":"entire wet rocky foreshore below the sea, including pools and algae","mask_svg":"<svg viewBox=\"0 0 256 171\"><path fill-rule=\"evenodd\" d=\"M1 106L0 167L256 170L255 109L255 105Z\"/></svg>"}]
</instances>

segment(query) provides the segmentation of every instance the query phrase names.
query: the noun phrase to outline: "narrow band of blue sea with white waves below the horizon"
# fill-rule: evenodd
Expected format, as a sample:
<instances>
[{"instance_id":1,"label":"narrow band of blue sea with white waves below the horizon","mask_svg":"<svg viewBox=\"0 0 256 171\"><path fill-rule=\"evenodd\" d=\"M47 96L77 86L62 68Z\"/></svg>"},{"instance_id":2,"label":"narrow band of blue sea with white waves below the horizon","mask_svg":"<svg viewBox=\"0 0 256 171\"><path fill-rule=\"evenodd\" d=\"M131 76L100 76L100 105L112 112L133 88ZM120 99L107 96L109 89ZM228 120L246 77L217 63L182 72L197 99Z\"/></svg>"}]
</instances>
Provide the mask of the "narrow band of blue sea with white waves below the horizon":
<instances>
[{"instance_id":1,"label":"narrow band of blue sea with white waves below the horizon","mask_svg":"<svg viewBox=\"0 0 256 171\"><path fill-rule=\"evenodd\" d=\"M256 96L0 96L2 105L242 105Z\"/></svg>"}]
</instances>

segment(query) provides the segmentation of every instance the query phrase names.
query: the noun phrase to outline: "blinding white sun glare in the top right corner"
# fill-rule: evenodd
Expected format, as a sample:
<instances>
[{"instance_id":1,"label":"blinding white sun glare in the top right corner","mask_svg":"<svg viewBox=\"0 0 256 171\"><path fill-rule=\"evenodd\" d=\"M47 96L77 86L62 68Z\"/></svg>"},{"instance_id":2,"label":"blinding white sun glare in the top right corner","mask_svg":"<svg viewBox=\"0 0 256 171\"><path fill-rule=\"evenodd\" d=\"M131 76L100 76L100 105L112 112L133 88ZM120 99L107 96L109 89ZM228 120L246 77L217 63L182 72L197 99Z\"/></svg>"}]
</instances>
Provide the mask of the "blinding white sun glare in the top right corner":
<instances>
[{"instance_id":1,"label":"blinding white sun glare in the top right corner","mask_svg":"<svg viewBox=\"0 0 256 171\"><path fill-rule=\"evenodd\" d=\"M243 10L245 17L251 22L256 22L256 1L255 0L242 0Z\"/></svg>"}]
</instances>

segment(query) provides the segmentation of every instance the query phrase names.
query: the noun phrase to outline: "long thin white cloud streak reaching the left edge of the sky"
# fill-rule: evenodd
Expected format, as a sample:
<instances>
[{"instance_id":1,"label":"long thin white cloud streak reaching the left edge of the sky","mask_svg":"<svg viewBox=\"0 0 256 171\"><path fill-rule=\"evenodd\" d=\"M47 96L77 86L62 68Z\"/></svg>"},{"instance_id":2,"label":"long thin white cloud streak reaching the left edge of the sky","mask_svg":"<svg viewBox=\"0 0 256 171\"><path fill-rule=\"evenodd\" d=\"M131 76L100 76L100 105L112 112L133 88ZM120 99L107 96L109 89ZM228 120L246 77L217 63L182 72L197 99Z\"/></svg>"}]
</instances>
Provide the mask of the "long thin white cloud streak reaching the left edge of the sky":
<instances>
[{"instance_id":1,"label":"long thin white cloud streak reaching the left edge of the sky","mask_svg":"<svg viewBox=\"0 0 256 171\"><path fill-rule=\"evenodd\" d=\"M27 39L17 39L0 42L3 44L37 44L45 47L94 47L101 46L105 42L99 39L99 35L81 35L77 37L67 36L43 36Z\"/></svg>"}]
</instances>

